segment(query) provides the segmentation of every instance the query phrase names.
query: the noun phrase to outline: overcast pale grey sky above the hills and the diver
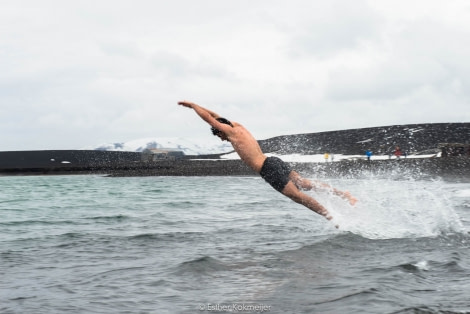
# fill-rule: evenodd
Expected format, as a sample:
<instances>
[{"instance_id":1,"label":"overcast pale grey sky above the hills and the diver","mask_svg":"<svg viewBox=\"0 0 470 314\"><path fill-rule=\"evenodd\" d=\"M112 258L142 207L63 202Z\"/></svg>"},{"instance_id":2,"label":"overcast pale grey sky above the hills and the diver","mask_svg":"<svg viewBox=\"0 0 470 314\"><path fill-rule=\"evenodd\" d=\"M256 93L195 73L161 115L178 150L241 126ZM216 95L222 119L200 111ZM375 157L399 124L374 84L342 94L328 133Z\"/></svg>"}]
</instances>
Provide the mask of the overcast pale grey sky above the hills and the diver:
<instances>
[{"instance_id":1,"label":"overcast pale grey sky above the hills and the diver","mask_svg":"<svg viewBox=\"0 0 470 314\"><path fill-rule=\"evenodd\" d=\"M0 151L470 122L470 1L2 0Z\"/></svg>"}]
</instances>

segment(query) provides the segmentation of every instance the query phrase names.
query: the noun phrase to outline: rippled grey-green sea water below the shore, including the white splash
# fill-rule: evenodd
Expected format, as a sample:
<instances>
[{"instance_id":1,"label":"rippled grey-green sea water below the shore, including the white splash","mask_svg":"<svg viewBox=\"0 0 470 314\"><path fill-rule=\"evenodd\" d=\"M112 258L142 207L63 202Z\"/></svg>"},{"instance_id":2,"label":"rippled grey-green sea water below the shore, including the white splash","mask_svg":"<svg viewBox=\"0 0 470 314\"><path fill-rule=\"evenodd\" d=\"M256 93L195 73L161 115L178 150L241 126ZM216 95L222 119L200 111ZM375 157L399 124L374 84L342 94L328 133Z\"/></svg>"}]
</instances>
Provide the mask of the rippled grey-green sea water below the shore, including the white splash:
<instances>
[{"instance_id":1,"label":"rippled grey-green sea water below the shore, including the white splash","mask_svg":"<svg viewBox=\"0 0 470 314\"><path fill-rule=\"evenodd\" d=\"M470 313L469 182L326 182L0 177L0 313Z\"/></svg>"}]
</instances>

